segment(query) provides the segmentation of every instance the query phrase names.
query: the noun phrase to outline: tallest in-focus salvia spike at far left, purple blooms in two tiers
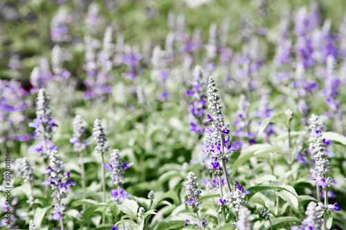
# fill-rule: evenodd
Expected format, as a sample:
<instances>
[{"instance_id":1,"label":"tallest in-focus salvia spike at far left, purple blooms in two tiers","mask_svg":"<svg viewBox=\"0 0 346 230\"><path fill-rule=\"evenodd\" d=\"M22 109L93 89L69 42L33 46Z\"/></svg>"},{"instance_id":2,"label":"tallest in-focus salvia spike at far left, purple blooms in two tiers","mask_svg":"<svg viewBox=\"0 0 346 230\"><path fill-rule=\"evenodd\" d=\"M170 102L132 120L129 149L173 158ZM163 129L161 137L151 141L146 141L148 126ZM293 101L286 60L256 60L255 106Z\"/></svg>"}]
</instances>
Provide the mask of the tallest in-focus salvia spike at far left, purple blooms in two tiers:
<instances>
[{"instance_id":1,"label":"tallest in-focus salvia spike at far left, purple blooms in two tiers","mask_svg":"<svg viewBox=\"0 0 346 230\"><path fill-rule=\"evenodd\" d=\"M46 90L41 88L37 95L36 102L36 115L30 127L36 128L35 135L42 140L35 149L29 150L30 152L38 153L44 159L48 157L48 153L57 147L52 143L53 127L57 126L51 117L51 109L49 108L49 97L46 95Z\"/></svg>"}]
</instances>

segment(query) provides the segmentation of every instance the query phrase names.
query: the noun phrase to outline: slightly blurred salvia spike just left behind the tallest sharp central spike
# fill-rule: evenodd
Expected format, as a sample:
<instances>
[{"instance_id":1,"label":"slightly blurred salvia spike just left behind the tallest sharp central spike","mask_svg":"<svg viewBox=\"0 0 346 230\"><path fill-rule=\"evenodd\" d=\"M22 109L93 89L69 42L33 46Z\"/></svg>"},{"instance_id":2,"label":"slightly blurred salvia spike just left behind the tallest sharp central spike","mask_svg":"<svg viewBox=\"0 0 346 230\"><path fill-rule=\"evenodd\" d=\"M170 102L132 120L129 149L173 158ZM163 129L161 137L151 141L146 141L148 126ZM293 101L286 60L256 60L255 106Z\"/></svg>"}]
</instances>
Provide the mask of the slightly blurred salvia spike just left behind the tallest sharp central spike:
<instances>
[{"instance_id":1,"label":"slightly blurred salvia spike just left behind the tallest sharp central spike","mask_svg":"<svg viewBox=\"0 0 346 230\"><path fill-rule=\"evenodd\" d=\"M204 111L206 110L206 98L203 94L205 91L205 84L203 82L203 70L201 66L196 66L193 72L194 79L192 80L192 90L187 90L186 93L191 97L190 102L190 131L201 134L203 127L201 126L202 119L204 117Z\"/></svg>"}]
</instances>

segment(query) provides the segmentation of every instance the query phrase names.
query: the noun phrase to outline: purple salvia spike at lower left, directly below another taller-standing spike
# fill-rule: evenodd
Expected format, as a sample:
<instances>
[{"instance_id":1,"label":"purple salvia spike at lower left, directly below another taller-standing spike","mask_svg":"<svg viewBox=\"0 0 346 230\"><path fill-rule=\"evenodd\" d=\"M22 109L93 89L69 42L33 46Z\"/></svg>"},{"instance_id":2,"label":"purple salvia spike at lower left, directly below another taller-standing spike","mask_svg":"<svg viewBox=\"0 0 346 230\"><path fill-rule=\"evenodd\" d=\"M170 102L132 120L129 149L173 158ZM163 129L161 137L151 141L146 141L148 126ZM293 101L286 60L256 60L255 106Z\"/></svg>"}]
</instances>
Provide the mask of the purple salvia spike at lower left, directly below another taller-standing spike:
<instances>
[{"instance_id":1,"label":"purple salvia spike at lower left, directly below another taller-standing spike","mask_svg":"<svg viewBox=\"0 0 346 230\"><path fill-rule=\"evenodd\" d=\"M53 200L57 200L57 204L54 205L53 220L60 220L61 228L64 229L63 213L66 210L66 206L62 204L62 199L66 198L64 191L69 189L68 186L75 185L76 183L71 182L71 179L64 181L64 178L70 177L70 173L68 171L64 172L64 162L60 160L60 155L56 150L51 151L49 159L49 165L43 173L50 173L51 175L48 181L42 184L48 184L54 190L51 197Z\"/></svg>"}]
</instances>

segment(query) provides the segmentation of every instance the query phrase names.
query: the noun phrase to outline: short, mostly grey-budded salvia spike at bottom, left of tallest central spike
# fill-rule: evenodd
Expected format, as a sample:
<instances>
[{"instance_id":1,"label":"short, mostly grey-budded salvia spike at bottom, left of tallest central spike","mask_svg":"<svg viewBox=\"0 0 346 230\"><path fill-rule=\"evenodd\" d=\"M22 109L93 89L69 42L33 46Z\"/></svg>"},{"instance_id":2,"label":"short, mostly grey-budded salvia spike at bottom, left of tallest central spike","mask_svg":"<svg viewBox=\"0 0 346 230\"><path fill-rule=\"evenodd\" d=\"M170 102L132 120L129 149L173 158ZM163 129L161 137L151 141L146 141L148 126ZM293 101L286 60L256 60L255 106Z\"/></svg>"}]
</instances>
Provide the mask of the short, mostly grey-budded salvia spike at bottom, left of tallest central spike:
<instances>
[{"instance_id":1,"label":"short, mostly grey-budded salvia spike at bottom, left of tallest central spike","mask_svg":"<svg viewBox=\"0 0 346 230\"><path fill-rule=\"evenodd\" d=\"M192 211L196 213L197 222L193 221L190 223L190 220L186 220L185 226L188 226L188 224L194 225L194 227L198 229L206 229L206 226L208 225L208 222L203 218L203 221L201 222L199 218L199 205L201 205L201 201L199 200L199 195L201 194L201 191L198 190L199 183L197 182L197 176L194 175L193 172L188 173L188 182L186 182L186 195L188 195L189 201L185 201L185 204L188 204Z\"/></svg>"}]
</instances>

